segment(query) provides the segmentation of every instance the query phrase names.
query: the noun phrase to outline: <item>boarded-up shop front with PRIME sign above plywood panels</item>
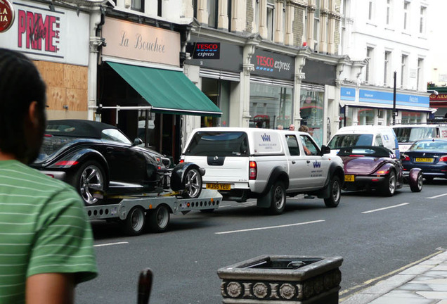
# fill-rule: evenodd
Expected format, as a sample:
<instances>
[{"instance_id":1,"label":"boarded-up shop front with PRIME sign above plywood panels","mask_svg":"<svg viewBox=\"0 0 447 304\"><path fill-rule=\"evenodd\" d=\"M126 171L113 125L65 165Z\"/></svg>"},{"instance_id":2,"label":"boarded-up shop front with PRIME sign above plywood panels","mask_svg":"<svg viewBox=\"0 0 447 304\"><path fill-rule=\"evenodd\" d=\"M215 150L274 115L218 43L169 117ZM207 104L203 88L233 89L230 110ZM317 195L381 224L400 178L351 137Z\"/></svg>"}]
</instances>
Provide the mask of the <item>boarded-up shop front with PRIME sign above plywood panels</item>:
<instances>
[{"instance_id":1,"label":"boarded-up shop front with PRIME sign above plywood panels","mask_svg":"<svg viewBox=\"0 0 447 304\"><path fill-rule=\"evenodd\" d=\"M89 13L20 0L13 10L11 27L0 32L0 47L20 51L37 65L47 86L47 118L86 119Z\"/></svg>"}]
</instances>

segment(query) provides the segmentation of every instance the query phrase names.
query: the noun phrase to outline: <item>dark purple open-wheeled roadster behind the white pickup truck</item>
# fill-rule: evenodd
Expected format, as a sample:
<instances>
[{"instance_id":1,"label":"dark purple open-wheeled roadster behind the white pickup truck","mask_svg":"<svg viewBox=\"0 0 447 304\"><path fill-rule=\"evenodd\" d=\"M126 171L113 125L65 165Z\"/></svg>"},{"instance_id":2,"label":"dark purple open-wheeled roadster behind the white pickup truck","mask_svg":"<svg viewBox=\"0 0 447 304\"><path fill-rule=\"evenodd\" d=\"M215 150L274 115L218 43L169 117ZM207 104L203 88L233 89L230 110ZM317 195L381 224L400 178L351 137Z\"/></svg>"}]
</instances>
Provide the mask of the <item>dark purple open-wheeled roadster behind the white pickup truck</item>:
<instances>
[{"instance_id":1,"label":"dark purple open-wheeled roadster behind the white pickup truck","mask_svg":"<svg viewBox=\"0 0 447 304\"><path fill-rule=\"evenodd\" d=\"M404 176L401 161L388 148L350 146L341 148L337 156L343 160L346 191L376 189L384 196L392 196L404 182L413 192L422 190L422 171L413 168Z\"/></svg>"}]
</instances>

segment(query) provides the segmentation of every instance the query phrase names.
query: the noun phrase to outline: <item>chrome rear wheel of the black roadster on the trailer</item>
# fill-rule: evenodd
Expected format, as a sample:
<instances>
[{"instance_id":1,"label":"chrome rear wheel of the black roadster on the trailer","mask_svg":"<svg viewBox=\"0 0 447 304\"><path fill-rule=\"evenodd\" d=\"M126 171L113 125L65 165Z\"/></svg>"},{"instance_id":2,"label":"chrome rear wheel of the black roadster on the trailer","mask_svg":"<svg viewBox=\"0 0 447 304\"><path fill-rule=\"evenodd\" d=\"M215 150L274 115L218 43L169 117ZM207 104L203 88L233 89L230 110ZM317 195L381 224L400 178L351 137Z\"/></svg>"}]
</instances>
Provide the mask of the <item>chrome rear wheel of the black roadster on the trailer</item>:
<instances>
[{"instance_id":1,"label":"chrome rear wheel of the black roadster on the trailer","mask_svg":"<svg viewBox=\"0 0 447 304\"><path fill-rule=\"evenodd\" d=\"M87 165L79 178L79 194L84 198L86 205L98 202L98 198L93 196L95 191L104 191L104 175L97 165Z\"/></svg>"}]
</instances>

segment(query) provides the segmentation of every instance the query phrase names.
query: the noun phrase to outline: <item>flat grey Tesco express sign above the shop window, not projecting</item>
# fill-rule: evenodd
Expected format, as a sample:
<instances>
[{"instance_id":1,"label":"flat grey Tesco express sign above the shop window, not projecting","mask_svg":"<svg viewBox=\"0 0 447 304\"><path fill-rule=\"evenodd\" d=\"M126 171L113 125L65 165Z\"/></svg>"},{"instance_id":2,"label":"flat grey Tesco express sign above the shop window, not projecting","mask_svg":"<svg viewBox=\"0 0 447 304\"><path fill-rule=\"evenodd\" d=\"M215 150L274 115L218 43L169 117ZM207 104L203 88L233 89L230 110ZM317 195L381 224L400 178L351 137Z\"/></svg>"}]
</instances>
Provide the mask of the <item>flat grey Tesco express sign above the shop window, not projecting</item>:
<instances>
[{"instance_id":1,"label":"flat grey Tesco express sign above the shop window, not projecting","mask_svg":"<svg viewBox=\"0 0 447 304\"><path fill-rule=\"evenodd\" d=\"M295 72L294 57L257 49L252 56L254 71L252 75L293 80Z\"/></svg>"}]
</instances>

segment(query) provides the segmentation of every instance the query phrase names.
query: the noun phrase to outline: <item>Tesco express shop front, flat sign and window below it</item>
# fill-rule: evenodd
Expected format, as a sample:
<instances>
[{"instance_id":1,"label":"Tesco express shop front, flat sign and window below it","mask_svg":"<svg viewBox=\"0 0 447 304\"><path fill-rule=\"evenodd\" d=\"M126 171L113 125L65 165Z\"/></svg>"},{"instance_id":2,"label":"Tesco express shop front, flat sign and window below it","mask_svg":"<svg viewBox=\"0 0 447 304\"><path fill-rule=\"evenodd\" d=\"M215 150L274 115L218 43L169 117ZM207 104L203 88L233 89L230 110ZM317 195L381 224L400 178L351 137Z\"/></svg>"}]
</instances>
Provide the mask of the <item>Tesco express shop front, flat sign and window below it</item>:
<instances>
[{"instance_id":1,"label":"Tesco express shop front, flat sign and window below it","mask_svg":"<svg viewBox=\"0 0 447 304\"><path fill-rule=\"evenodd\" d=\"M250 127L288 128L294 117L294 57L257 49L252 64Z\"/></svg>"}]
</instances>

